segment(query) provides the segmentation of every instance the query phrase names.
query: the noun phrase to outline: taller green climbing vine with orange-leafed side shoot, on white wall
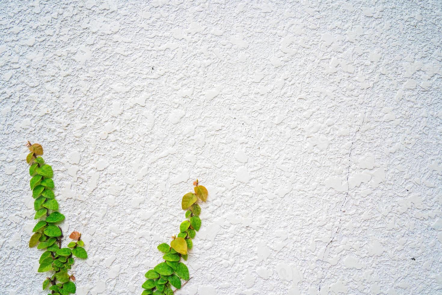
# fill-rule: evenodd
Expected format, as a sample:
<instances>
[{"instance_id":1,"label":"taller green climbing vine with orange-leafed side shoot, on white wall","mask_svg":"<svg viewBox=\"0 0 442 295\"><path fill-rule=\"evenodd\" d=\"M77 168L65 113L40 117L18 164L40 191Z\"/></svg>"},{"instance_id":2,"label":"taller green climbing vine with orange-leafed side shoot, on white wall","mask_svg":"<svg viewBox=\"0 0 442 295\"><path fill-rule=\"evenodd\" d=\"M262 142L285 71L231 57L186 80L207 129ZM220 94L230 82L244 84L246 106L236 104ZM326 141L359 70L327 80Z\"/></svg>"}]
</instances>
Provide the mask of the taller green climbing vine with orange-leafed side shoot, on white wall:
<instances>
[{"instance_id":1,"label":"taller green climbing vine with orange-leafed side shoot, on white wall","mask_svg":"<svg viewBox=\"0 0 442 295\"><path fill-rule=\"evenodd\" d=\"M30 189L35 199L34 219L40 219L32 230L34 234L30 238L29 247L37 246L37 249L46 249L38 261L40 263L38 272L55 272L44 280L43 290L49 287L51 293L48 295L73 294L76 291L73 282L75 277L68 274L74 263L72 256L87 258L88 254L83 248L84 242L80 240L81 234L76 231L70 235L70 238L76 241L71 241L66 248L61 248L63 234L57 223L63 221L65 215L57 211L58 203L53 193L53 170L41 157L43 154L41 145L38 143L31 145L28 142L28 148L30 153L26 161L30 164L29 174L32 176Z\"/></svg>"}]
</instances>

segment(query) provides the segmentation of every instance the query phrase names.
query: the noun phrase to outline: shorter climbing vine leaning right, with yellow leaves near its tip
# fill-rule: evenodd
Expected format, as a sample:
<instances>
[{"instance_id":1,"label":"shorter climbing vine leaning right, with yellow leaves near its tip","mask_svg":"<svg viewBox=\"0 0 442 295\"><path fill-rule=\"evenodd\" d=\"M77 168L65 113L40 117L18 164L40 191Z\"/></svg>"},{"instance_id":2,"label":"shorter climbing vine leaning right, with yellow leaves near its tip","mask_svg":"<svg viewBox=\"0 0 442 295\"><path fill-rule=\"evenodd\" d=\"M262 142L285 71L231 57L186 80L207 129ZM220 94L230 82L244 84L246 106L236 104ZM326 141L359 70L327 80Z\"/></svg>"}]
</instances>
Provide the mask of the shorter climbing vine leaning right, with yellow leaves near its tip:
<instances>
[{"instance_id":1,"label":"shorter climbing vine leaning right, with yellow leaves near its tip","mask_svg":"<svg viewBox=\"0 0 442 295\"><path fill-rule=\"evenodd\" d=\"M198 179L194 182L194 186L195 192L185 194L181 201L181 207L186 210L186 218L188 219L181 222L179 234L172 237L170 245L167 243L158 245L158 250L164 253L164 262L146 272L147 280L141 286L145 290L141 295L173 295L172 286L179 289L182 286L181 279L189 280L189 270L186 264L180 260L183 258L187 261L187 250L192 249L192 239L201 227L201 219L199 218L201 207L197 201L200 199L206 202L208 195L207 189L198 185Z\"/></svg>"}]
</instances>

